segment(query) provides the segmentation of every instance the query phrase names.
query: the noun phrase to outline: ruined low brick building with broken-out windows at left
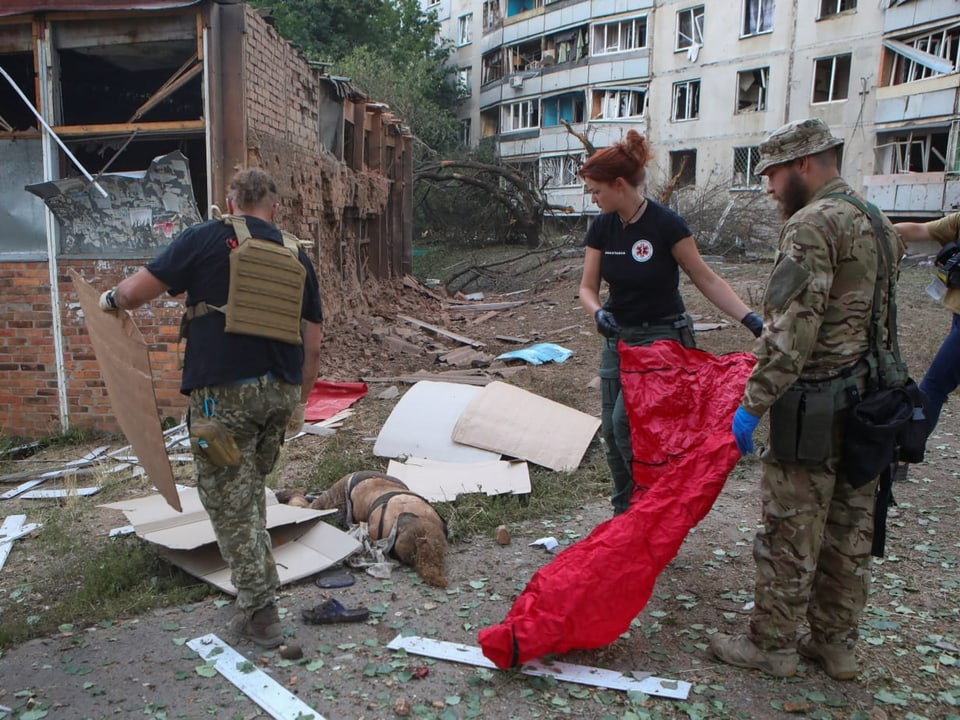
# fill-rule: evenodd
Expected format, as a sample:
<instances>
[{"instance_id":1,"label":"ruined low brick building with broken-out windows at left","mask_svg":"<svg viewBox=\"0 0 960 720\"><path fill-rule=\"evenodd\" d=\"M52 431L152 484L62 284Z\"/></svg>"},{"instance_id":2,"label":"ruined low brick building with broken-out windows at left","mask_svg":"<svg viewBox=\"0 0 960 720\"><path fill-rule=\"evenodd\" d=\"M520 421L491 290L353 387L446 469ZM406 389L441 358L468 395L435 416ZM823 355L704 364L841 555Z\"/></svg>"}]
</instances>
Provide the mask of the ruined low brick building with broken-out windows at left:
<instances>
[{"instance_id":1,"label":"ruined low brick building with broken-out windows at left","mask_svg":"<svg viewBox=\"0 0 960 720\"><path fill-rule=\"evenodd\" d=\"M328 319L412 257L411 135L230 0L0 4L0 434L117 425L70 271L141 267L262 167ZM179 418L182 299L134 313Z\"/></svg>"}]
</instances>

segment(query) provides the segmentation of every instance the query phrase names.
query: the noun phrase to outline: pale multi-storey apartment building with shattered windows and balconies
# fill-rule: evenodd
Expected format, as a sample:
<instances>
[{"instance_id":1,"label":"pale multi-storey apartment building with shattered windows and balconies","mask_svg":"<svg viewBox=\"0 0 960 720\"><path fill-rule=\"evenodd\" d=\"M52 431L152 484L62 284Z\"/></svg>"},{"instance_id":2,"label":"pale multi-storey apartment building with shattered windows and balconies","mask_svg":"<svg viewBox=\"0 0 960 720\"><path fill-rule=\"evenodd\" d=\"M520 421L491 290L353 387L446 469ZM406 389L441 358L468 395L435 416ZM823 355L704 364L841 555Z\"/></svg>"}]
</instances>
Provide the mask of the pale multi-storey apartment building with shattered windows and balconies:
<instances>
[{"instance_id":1,"label":"pale multi-storey apartment building with shattered windows and balconies","mask_svg":"<svg viewBox=\"0 0 960 720\"><path fill-rule=\"evenodd\" d=\"M844 176L889 215L960 209L958 0L421 0L470 90L463 136L535 166L550 200L596 212L584 148L629 129L651 184L762 191L759 144L820 117Z\"/></svg>"}]
</instances>

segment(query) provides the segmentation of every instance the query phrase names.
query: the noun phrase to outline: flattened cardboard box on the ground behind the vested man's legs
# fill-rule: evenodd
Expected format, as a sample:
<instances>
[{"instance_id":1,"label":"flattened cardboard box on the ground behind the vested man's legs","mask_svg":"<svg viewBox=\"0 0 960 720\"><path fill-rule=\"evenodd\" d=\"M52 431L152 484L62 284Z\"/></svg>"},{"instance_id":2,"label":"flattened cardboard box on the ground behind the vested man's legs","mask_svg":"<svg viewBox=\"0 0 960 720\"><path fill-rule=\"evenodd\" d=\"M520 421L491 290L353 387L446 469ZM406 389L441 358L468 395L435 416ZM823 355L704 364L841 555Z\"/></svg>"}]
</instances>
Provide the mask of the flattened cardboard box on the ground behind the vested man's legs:
<instances>
[{"instance_id":1,"label":"flattened cardboard box on the ground behind the vested man's legs","mask_svg":"<svg viewBox=\"0 0 960 720\"><path fill-rule=\"evenodd\" d=\"M309 577L360 549L360 543L345 532L319 522L334 510L308 510L267 497L267 529L273 539L273 557L280 584ZM230 568L221 557L213 525L196 488L180 493L183 512L173 512L159 495L120 500L102 505L121 510L144 540L160 546L160 555L230 595L237 589L230 582Z\"/></svg>"}]
</instances>

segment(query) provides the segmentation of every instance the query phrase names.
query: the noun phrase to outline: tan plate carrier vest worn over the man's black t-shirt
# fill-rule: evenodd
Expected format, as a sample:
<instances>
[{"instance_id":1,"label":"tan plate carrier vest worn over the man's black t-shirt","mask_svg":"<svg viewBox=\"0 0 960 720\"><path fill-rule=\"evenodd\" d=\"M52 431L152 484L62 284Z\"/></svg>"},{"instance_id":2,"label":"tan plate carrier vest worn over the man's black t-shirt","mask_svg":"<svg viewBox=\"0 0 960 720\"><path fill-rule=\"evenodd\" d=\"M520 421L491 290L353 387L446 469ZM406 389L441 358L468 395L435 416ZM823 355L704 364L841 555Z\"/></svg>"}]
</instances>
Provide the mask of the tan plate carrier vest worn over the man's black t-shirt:
<instances>
[{"instance_id":1,"label":"tan plate carrier vest worn over the man's black t-shirt","mask_svg":"<svg viewBox=\"0 0 960 720\"><path fill-rule=\"evenodd\" d=\"M222 215L233 227L239 245L230 252L230 289L227 304L217 307L199 302L187 308L181 323L181 337L195 317L212 310L227 319L224 330L240 335L279 340L300 345L300 314L306 268L300 262L300 242L283 233L283 245L251 237L246 218Z\"/></svg>"}]
</instances>

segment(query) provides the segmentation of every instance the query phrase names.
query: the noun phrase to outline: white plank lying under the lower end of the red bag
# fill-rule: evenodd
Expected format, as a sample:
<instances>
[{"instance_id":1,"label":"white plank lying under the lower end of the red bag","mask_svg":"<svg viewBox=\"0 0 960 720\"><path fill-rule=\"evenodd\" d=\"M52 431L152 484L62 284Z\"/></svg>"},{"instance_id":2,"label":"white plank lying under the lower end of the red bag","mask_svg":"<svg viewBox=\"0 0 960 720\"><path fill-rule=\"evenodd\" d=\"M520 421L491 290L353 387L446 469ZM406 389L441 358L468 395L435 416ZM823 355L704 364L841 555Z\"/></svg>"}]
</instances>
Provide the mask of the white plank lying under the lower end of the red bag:
<instances>
[{"instance_id":1,"label":"white plank lying under the lower end of the red bag","mask_svg":"<svg viewBox=\"0 0 960 720\"><path fill-rule=\"evenodd\" d=\"M414 655L424 655L426 657L450 660L452 662L465 663L476 667L497 669L497 666L483 655L480 648L473 645L463 645L461 643L452 643L443 640L431 640L430 638L417 637L415 635L410 637L397 635L397 637L390 641L387 647L391 650L403 649ZM608 688L610 690L634 690L647 695L667 697L675 700L686 700L692 687L690 683L684 682L683 680L667 680L652 676L643 680L636 680L615 670L604 670L588 665L574 665L563 662L543 663L539 660L533 660L521 665L520 672L524 675L552 677L564 682Z\"/></svg>"}]
</instances>

